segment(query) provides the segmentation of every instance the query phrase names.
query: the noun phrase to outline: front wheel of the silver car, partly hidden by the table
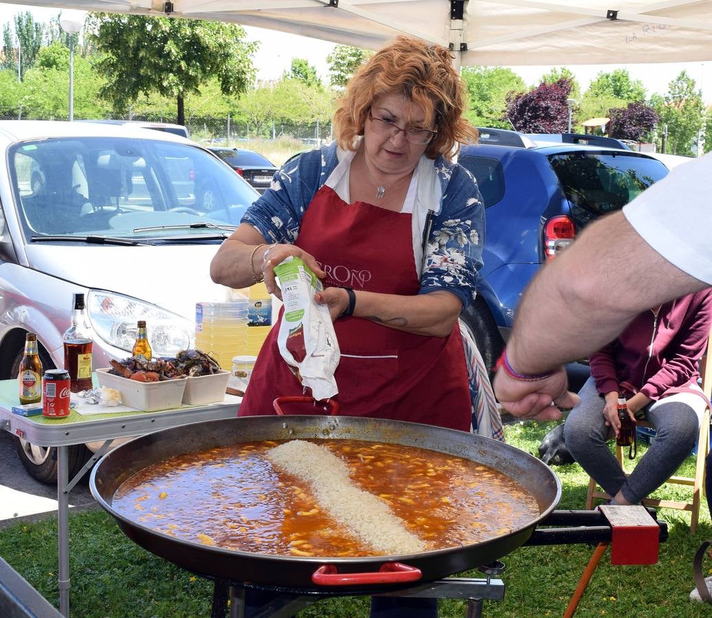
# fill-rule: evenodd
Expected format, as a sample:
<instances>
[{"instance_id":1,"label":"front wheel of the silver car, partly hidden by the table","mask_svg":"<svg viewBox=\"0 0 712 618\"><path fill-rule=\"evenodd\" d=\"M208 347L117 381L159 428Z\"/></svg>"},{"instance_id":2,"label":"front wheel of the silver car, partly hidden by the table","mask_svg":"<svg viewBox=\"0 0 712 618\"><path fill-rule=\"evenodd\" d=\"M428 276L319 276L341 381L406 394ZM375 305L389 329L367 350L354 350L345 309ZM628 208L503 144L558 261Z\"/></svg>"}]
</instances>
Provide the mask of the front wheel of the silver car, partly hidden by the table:
<instances>
[{"instance_id":1,"label":"front wheel of the silver car, partly hidden by the table","mask_svg":"<svg viewBox=\"0 0 712 618\"><path fill-rule=\"evenodd\" d=\"M23 353L23 347L16 351L10 375L17 375L19 373ZM44 371L54 368L52 359L42 346L39 346L39 355ZM19 436L15 436L15 450L23 467L33 479L41 483L57 483L56 447L41 447ZM80 471L85 462L87 462L90 457L90 452L84 444L74 444L68 447L67 450L69 457L69 478L72 479L75 474Z\"/></svg>"}]
</instances>

